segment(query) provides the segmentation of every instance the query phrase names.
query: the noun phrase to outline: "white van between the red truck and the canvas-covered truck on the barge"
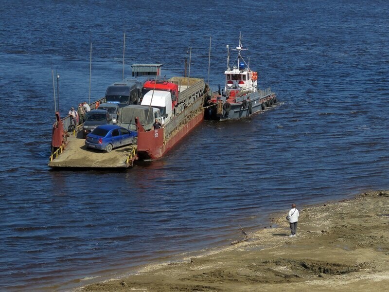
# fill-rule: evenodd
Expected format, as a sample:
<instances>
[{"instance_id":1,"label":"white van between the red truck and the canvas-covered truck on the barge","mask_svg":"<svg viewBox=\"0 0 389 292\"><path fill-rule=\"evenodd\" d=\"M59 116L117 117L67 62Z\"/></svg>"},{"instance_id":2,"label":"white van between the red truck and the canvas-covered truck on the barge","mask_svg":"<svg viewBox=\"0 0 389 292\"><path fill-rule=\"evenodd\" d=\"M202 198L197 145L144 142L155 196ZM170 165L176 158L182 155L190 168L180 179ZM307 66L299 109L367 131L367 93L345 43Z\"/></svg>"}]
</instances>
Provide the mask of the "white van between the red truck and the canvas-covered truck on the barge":
<instances>
[{"instance_id":1,"label":"white van between the red truck and the canvas-covered truck on the barge","mask_svg":"<svg viewBox=\"0 0 389 292\"><path fill-rule=\"evenodd\" d=\"M159 109L162 125L167 124L172 117L172 96L169 91L148 91L144 94L141 105Z\"/></svg>"}]
</instances>

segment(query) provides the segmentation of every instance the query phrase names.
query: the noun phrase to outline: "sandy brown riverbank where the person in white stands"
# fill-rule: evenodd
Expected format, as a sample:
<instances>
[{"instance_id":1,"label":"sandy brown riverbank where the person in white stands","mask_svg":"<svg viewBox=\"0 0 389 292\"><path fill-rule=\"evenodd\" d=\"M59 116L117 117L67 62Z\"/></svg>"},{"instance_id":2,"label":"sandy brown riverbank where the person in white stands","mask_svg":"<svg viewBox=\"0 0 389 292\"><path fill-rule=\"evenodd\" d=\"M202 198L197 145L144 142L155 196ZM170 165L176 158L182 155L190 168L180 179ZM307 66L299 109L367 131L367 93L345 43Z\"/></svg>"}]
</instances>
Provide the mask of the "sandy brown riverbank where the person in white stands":
<instances>
[{"instance_id":1,"label":"sandy brown riverbank where the person in white stands","mask_svg":"<svg viewBox=\"0 0 389 292\"><path fill-rule=\"evenodd\" d=\"M285 212L244 242L77 291L388 291L389 191L299 210L296 237Z\"/></svg>"}]
</instances>

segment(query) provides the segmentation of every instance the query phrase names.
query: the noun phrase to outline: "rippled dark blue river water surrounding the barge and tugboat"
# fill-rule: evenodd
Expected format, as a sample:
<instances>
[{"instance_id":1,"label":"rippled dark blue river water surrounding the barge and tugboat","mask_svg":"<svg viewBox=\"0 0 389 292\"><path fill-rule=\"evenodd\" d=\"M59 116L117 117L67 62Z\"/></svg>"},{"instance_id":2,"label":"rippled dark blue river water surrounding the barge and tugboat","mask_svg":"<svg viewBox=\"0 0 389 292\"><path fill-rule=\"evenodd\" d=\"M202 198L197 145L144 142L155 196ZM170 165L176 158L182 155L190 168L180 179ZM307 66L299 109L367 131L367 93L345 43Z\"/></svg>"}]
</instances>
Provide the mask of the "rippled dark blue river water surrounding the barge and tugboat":
<instances>
[{"instance_id":1,"label":"rippled dark blue river water surrounding the barge and tugboat","mask_svg":"<svg viewBox=\"0 0 389 292\"><path fill-rule=\"evenodd\" d=\"M387 1L0 1L0 290L67 290L240 237L269 213L388 188ZM223 84L243 35L280 103L204 122L163 159L125 171L47 166L59 109L134 63ZM208 52L212 37L211 70ZM231 53L231 56L233 52ZM56 82L55 82L56 83Z\"/></svg>"}]
</instances>

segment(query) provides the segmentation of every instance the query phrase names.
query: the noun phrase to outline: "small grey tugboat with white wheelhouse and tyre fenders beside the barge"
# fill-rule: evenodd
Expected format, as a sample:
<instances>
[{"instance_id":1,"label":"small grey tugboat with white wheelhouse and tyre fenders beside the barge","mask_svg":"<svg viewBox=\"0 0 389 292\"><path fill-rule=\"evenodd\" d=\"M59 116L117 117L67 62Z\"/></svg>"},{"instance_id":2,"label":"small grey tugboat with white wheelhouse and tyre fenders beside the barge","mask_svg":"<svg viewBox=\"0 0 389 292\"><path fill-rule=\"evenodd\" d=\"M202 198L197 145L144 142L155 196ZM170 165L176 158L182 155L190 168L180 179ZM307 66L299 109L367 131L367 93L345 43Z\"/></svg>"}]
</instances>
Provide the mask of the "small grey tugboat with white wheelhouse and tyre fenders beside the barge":
<instances>
[{"instance_id":1,"label":"small grey tugboat with white wheelhouse and tyre fenders beside the barge","mask_svg":"<svg viewBox=\"0 0 389 292\"><path fill-rule=\"evenodd\" d=\"M249 117L277 102L276 94L270 87L260 90L257 87L258 73L252 71L241 55L242 37L239 35L237 65L230 67L230 49L227 45L226 83L208 97L205 104L205 118L211 120L230 120Z\"/></svg>"}]
</instances>

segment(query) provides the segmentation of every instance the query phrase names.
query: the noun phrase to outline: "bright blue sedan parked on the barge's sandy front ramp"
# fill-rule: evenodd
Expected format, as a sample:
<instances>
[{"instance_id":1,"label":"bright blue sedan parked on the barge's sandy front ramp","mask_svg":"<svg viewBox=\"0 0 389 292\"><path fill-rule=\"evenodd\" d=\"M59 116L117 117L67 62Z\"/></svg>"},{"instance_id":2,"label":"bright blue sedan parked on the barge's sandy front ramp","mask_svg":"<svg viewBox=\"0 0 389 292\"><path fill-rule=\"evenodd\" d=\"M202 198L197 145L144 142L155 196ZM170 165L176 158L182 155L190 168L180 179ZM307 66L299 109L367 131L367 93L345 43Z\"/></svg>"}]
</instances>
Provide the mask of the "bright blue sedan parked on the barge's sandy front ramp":
<instances>
[{"instance_id":1,"label":"bright blue sedan parked on the barge's sandy front ramp","mask_svg":"<svg viewBox=\"0 0 389 292\"><path fill-rule=\"evenodd\" d=\"M113 148L136 144L138 133L117 125L103 125L87 135L85 145L89 148L111 152Z\"/></svg>"}]
</instances>

